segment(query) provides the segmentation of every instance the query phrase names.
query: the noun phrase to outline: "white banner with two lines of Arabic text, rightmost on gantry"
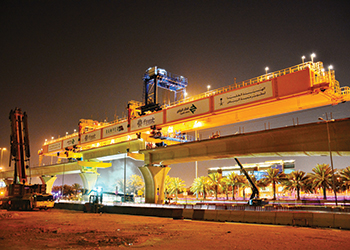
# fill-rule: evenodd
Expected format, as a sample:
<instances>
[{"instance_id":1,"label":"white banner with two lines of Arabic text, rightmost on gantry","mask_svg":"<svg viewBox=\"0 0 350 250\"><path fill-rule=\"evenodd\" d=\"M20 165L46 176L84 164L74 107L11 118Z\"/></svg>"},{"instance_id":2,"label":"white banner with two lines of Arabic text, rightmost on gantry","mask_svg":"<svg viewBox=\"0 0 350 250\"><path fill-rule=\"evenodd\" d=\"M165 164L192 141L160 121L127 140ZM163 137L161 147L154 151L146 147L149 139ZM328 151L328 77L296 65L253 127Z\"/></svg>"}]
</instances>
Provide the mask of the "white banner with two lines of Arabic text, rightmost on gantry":
<instances>
[{"instance_id":1,"label":"white banner with two lines of Arabic text, rightmost on gantry","mask_svg":"<svg viewBox=\"0 0 350 250\"><path fill-rule=\"evenodd\" d=\"M272 82L268 81L214 96L214 110L260 101L272 96Z\"/></svg>"}]
</instances>

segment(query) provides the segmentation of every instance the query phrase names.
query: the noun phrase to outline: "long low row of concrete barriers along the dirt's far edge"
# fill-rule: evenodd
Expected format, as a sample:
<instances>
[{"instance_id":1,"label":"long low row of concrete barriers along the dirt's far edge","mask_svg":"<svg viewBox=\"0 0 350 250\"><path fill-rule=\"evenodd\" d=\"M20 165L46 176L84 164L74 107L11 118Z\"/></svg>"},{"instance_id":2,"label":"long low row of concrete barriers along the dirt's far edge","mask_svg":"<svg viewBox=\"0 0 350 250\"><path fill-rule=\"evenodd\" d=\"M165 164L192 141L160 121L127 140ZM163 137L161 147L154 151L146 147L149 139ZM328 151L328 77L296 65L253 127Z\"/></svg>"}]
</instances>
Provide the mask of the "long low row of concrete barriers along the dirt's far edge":
<instances>
[{"instance_id":1,"label":"long low row of concrete barriers along the dirt's far edge","mask_svg":"<svg viewBox=\"0 0 350 250\"><path fill-rule=\"evenodd\" d=\"M54 208L83 211L84 204L56 203ZM350 229L350 214L340 212L205 210L138 206L104 206L102 212L173 219Z\"/></svg>"}]
</instances>

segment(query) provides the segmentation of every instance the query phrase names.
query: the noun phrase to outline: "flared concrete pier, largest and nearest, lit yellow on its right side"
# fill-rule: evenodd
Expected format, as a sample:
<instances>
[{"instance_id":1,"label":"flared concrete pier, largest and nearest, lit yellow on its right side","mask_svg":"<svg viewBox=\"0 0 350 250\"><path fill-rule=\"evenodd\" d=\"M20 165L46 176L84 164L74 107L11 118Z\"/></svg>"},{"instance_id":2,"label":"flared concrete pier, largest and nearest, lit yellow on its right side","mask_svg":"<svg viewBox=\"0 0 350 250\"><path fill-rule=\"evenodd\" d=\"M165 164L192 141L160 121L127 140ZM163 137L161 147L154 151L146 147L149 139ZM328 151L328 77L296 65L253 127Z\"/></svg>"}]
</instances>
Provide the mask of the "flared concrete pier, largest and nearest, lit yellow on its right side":
<instances>
[{"instance_id":1,"label":"flared concrete pier, largest and nearest, lit yellow on its right side","mask_svg":"<svg viewBox=\"0 0 350 250\"><path fill-rule=\"evenodd\" d=\"M168 166L143 166L139 167L145 180L145 202L163 204L165 190L165 176L168 174Z\"/></svg>"}]
</instances>

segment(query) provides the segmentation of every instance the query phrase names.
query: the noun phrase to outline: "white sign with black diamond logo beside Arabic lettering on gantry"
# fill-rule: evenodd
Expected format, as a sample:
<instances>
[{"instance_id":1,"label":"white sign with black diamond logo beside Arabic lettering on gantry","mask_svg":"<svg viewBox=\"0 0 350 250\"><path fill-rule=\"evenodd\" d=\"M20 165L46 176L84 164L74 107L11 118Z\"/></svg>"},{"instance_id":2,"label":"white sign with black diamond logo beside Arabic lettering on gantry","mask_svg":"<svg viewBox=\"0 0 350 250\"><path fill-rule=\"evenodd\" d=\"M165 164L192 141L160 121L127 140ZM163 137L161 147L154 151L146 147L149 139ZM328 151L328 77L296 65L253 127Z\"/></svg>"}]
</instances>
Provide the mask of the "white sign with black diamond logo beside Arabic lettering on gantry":
<instances>
[{"instance_id":1,"label":"white sign with black diamond logo beside Arabic lettering on gantry","mask_svg":"<svg viewBox=\"0 0 350 250\"><path fill-rule=\"evenodd\" d=\"M209 112L209 98L168 109L166 111L166 120L171 122L207 112Z\"/></svg>"}]
</instances>

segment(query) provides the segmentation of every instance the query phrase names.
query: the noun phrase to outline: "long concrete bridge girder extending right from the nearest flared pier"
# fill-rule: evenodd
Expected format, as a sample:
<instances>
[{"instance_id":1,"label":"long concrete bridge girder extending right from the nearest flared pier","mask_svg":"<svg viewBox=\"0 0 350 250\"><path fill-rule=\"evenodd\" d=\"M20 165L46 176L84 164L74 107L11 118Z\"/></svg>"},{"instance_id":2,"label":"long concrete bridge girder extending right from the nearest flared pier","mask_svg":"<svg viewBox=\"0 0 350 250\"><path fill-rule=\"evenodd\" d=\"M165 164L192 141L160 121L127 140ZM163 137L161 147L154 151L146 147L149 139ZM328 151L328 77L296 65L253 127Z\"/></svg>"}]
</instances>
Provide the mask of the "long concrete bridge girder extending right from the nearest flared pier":
<instances>
[{"instance_id":1,"label":"long concrete bridge girder extending right from the nearest flared pier","mask_svg":"<svg viewBox=\"0 0 350 250\"><path fill-rule=\"evenodd\" d=\"M350 156L350 118L329 122L333 155ZM310 123L142 150L145 164L175 164L232 157L329 155L327 124Z\"/></svg>"}]
</instances>

